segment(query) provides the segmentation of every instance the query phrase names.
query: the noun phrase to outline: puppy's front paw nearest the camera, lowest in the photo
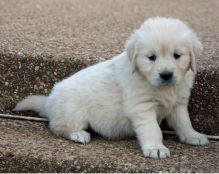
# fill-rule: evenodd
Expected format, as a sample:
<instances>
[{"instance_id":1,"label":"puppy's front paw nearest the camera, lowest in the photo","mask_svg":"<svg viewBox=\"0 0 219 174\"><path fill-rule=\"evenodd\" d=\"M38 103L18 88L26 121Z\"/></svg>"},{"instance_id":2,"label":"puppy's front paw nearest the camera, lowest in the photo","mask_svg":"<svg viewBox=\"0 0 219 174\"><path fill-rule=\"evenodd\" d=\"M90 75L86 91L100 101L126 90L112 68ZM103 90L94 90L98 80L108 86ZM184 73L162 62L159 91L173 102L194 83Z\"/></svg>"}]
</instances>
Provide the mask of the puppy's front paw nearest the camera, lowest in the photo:
<instances>
[{"instance_id":1,"label":"puppy's front paw nearest the camera, lowest in the photo","mask_svg":"<svg viewBox=\"0 0 219 174\"><path fill-rule=\"evenodd\" d=\"M170 151L164 145L155 145L155 146L145 146L143 148L143 153L145 157L150 158L166 158L170 156Z\"/></svg>"}]
</instances>

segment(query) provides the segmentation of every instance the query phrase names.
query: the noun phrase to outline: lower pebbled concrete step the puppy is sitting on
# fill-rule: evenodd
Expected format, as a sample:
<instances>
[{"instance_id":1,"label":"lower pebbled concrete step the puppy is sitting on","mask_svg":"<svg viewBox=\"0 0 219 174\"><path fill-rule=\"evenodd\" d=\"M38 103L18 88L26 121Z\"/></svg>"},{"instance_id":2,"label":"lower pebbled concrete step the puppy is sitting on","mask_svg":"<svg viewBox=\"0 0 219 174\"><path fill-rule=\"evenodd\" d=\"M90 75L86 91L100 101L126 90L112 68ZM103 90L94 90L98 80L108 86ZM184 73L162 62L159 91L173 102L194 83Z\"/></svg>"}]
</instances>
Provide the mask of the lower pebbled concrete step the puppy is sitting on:
<instances>
[{"instance_id":1,"label":"lower pebbled concrete step the puppy is sitting on","mask_svg":"<svg viewBox=\"0 0 219 174\"><path fill-rule=\"evenodd\" d=\"M56 137L46 123L0 119L0 172L219 172L219 142L184 145L165 137L171 157L144 158L135 138L92 136L81 145Z\"/></svg>"}]
</instances>

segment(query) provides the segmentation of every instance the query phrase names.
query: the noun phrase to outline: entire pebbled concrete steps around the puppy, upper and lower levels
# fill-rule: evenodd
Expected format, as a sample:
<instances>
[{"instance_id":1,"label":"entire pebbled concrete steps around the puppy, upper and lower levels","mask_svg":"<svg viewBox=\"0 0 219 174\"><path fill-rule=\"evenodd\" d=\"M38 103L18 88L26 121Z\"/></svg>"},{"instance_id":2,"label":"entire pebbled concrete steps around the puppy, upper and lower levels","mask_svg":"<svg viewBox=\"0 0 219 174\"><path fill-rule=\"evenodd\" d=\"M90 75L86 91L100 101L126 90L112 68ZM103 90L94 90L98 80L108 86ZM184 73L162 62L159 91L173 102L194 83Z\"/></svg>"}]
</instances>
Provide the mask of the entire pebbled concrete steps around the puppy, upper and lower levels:
<instances>
[{"instance_id":1,"label":"entire pebbled concrete steps around the puppy, upper and lower levels","mask_svg":"<svg viewBox=\"0 0 219 174\"><path fill-rule=\"evenodd\" d=\"M121 53L148 17L186 21L201 37L198 75L189 105L194 127L219 135L218 0L1 0L0 112L13 113L29 94L48 94L54 83ZM36 115L35 115L36 116ZM219 172L218 142L208 147L167 138L172 157L145 159L135 139L93 138L81 146L57 138L47 125L12 120L0 124L0 171ZM99 159L99 160L98 160Z\"/></svg>"}]
</instances>

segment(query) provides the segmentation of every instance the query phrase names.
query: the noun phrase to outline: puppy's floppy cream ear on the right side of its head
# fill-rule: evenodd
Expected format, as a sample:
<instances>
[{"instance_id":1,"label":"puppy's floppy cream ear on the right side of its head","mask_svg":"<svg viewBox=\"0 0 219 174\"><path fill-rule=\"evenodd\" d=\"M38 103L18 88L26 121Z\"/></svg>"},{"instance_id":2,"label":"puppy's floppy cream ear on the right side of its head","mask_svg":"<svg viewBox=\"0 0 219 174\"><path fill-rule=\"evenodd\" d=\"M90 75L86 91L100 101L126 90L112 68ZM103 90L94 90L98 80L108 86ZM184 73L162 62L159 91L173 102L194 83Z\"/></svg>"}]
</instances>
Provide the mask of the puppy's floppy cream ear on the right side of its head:
<instances>
[{"instance_id":1,"label":"puppy's floppy cream ear on the right side of its head","mask_svg":"<svg viewBox=\"0 0 219 174\"><path fill-rule=\"evenodd\" d=\"M191 46L190 46L190 68L191 70L196 73L196 57L201 55L201 52L203 51L202 43L200 42L199 38L195 33L192 33L191 38Z\"/></svg>"}]
</instances>

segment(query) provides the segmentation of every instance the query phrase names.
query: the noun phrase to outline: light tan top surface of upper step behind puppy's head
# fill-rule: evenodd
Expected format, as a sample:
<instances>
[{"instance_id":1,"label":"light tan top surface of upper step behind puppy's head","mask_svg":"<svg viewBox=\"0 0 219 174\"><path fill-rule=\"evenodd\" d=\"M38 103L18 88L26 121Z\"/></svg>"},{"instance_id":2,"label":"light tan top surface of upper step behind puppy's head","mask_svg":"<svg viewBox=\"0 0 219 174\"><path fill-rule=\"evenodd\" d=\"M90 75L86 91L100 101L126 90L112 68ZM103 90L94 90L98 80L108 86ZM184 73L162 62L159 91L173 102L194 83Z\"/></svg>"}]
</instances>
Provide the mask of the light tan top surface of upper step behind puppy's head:
<instances>
[{"instance_id":1,"label":"light tan top surface of upper step behind puppy's head","mask_svg":"<svg viewBox=\"0 0 219 174\"><path fill-rule=\"evenodd\" d=\"M171 16L202 37L199 68L219 64L217 0L1 0L0 6L1 53L99 61L121 52L146 18Z\"/></svg>"}]
</instances>

